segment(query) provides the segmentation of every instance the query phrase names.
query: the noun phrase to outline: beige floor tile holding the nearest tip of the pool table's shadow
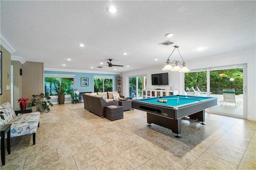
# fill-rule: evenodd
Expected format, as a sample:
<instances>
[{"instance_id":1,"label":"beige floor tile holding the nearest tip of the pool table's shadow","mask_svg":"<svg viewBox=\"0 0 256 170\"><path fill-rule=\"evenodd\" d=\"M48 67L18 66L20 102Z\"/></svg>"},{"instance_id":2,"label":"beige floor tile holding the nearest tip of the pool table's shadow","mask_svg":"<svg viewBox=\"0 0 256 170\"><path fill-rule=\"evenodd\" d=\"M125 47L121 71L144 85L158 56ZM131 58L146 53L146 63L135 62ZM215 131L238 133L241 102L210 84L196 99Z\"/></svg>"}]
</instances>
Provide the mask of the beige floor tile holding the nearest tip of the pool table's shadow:
<instances>
[{"instance_id":1,"label":"beige floor tile holding the nearest tip of the pool table's shadow","mask_svg":"<svg viewBox=\"0 0 256 170\"><path fill-rule=\"evenodd\" d=\"M172 148L166 150L164 154L176 160L177 162L180 162L186 167L198 158L198 155L179 146L172 146Z\"/></svg>"}]
</instances>

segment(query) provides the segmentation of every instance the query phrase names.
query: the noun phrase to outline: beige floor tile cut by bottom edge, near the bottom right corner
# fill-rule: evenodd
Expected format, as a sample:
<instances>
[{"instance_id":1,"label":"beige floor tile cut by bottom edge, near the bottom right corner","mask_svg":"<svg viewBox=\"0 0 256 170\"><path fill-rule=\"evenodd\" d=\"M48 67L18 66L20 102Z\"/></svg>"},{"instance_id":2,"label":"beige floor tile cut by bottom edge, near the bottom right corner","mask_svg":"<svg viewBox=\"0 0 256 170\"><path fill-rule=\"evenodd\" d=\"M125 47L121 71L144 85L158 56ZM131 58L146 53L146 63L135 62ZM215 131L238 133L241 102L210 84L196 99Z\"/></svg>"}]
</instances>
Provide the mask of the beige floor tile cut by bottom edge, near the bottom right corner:
<instances>
[{"instance_id":1,"label":"beige floor tile cut by bottom edge, near the bottom right corner","mask_svg":"<svg viewBox=\"0 0 256 170\"><path fill-rule=\"evenodd\" d=\"M197 158L197 160L195 160L195 162L203 165L208 169L235 170L238 167L238 165L224 160L218 156L212 155L208 152L204 152L199 158Z\"/></svg>"}]
</instances>

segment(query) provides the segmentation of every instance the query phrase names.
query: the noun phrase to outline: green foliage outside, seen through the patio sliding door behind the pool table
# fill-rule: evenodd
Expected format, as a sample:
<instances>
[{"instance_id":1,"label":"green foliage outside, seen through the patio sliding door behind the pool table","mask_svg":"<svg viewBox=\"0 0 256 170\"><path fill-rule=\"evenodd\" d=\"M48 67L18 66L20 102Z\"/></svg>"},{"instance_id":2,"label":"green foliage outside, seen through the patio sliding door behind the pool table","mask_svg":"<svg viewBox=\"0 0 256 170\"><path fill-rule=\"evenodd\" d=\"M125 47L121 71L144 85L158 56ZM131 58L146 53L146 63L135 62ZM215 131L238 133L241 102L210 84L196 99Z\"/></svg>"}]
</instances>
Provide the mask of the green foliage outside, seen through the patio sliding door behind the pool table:
<instances>
[{"instance_id":1,"label":"green foliage outside, seen through the patio sliding door behind the pool table","mask_svg":"<svg viewBox=\"0 0 256 170\"><path fill-rule=\"evenodd\" d=\"M234 81L231 82L230 78L234 78ZM186 87L198 87L200 91L206 91L206 71L185 73L185 91ZM210 71L210 91L212 94L222 94L223 89L232 89L232 87L236 91L236 95L243 94L242 68Z\"/></svg>"}]
</instances>

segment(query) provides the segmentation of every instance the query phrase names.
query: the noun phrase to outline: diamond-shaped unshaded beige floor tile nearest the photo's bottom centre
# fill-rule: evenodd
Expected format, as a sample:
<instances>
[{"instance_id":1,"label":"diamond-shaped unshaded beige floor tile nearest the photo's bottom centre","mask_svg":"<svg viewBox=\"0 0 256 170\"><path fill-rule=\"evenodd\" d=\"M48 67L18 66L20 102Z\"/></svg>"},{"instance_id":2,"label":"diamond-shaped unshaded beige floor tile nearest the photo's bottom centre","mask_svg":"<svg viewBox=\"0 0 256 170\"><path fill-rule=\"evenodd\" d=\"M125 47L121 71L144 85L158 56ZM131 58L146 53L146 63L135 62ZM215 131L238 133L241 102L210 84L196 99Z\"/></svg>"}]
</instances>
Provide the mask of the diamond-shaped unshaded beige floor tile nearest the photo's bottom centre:
<instances>
[{"instance_id":1,"label":"diamond-shaped unshaded beige floor tile nearest the photo's bottom centre","mask_svg":"<svg viewBox=\"0 0 256 170\"><path fill-rule=\"evenodd\" d=\"M119 154L132 166L132 168L137 168L142 164L146 163L148 160L153 158L148 152L142 150L140 147L136 146L130 150L126 150L125 152Z\"/></svg>"}]
</instances>

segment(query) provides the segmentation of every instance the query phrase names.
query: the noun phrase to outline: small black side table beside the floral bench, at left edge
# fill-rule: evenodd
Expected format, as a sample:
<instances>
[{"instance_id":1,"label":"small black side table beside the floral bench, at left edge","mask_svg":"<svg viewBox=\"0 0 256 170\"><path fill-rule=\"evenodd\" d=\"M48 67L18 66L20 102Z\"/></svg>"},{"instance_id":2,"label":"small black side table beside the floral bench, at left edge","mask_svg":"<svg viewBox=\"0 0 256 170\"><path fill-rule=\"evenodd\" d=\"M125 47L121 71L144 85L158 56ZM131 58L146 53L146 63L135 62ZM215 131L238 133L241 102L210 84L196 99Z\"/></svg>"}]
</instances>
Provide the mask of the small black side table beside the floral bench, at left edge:
<instances>
[{"instance_id":1,"label":"small black side table beside the floral bench, at left edge","mask_svg":"<svg viewBox=\"0 0 256 170\"><path fill-rule=\"evenodd\" d=\"M4 126L1 125L1 161L2 164L5 165L5 134L7 133L7 152L11 154L11 125L6 124Z\"/></svg>"}]
</instances>

